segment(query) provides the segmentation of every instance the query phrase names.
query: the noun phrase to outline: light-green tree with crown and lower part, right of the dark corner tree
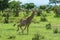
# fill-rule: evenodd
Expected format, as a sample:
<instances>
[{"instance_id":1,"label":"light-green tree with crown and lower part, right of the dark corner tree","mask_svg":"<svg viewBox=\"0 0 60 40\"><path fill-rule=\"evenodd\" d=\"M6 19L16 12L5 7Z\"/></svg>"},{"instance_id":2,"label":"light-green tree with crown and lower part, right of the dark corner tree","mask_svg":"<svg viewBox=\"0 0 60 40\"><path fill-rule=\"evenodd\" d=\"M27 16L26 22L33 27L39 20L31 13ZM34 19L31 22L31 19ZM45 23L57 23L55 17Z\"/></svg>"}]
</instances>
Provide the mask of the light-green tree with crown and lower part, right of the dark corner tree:
<instances>
[{"instance_id":1,"label":"light-green tree with crown and lower part, right of the dark corner tree","mask_svg":"<svg viewBox=\"0 0 60 40\"><path fill-rule=\"evenodd\" d=\"M15 17L19 16L20 4L21 4L21 2L19 2L19 1L11 1L9 3L9 8L13 9L13 13L14 13Z\"/></svg>"}]
</instances>

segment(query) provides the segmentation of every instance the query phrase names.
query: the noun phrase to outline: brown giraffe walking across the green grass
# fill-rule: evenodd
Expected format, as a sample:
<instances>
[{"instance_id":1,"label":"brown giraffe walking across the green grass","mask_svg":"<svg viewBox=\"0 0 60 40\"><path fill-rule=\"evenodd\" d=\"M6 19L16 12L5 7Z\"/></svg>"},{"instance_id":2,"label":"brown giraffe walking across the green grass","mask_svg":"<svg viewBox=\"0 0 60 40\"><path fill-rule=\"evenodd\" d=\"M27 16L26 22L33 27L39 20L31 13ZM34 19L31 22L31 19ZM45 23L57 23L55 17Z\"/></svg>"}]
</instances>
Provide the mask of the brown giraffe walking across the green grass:
<instances>
[{"instance_id":1,"label":"brown giraffe walking across the green grass","mask_svg":"<svg viewBox=\"0 0 60 40\"><path fill-rule=\"evenodd\" d=\"M19 28L22 30L22 33L23 31L27 28L27 34L28 34L28 31L29 31L29 25L31 24L31 21L34 17L34 14L35 14L36 11L32 11L32 14L31 16L29 16L28 18L26 19L21 19L18 26L17 26L17 31L19 31ZM24 29L22 29L22 27L24 27Z\"/></svg>"}]
</instances>

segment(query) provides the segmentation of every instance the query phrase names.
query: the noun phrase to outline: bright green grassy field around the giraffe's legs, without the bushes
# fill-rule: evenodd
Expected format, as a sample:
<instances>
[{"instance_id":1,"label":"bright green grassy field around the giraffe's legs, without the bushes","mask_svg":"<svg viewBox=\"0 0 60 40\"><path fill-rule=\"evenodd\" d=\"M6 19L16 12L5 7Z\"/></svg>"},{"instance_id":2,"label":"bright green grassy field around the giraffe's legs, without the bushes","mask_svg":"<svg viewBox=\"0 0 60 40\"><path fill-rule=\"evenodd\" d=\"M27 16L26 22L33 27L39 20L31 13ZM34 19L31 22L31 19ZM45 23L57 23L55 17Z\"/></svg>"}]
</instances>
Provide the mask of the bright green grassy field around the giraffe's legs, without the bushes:
<instances>
[{"instance_id":1,"label":"bright green grassy field around the giraffe's legs, without the bushes","mask_svg":"<svg viewBox=\"0 0 60 40\"><path fill-rule=\"evenodd\" d=\"M24 31L24 35L20 34L17 32L17 26L13 27L14 23L9 23L9 24L3 24L0 23L0 40L32 40L34 37L34 34L39 33L41 36L44 37L44 39L40 40L60 40L60 33L55 34L53 30L55 28L58 28L58 31L60 32L60 18L54 17L53 12L50 14L47 14L47 22L41 22L40 17L35 16L34 17L34 22L32 22L29 26L29 34L26 35L26 30ZM46 29L46 24L48 23L52 24L52 29ZM13 36L14 38L9 39L10 36Z\"/></svg>"}]
</instances>

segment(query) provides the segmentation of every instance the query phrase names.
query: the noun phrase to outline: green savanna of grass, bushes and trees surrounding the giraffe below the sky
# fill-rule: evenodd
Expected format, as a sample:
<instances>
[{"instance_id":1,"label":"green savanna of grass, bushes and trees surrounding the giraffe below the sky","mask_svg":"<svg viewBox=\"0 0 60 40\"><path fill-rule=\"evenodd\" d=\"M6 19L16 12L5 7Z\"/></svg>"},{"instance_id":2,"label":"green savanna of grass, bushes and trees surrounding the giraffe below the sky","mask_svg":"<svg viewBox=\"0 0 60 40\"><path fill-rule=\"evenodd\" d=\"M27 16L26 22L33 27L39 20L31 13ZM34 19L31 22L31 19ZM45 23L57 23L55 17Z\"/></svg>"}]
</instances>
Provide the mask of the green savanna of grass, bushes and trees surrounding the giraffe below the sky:
<instances>
[{"instance_id":1,"label":"green savanna of grass, bushes and trees surrounding the giraffe below the sky","mask_svg":"<svg viewBox=\"0 0 60 40\"><path fill-rule=\"evenodd\" d=\"M49 0L49 5L36 6L34 3L3 0L0 1L0 40L60 40L60 3ZM50 4L54 3L52 6ZM33 10L37 10L29 26L29 34L21 30L17 32L17 25L21 19L28 18ZM17 24L15 27L14 24Z\"/></svg>"}]
</instances>

